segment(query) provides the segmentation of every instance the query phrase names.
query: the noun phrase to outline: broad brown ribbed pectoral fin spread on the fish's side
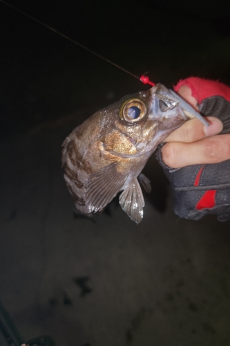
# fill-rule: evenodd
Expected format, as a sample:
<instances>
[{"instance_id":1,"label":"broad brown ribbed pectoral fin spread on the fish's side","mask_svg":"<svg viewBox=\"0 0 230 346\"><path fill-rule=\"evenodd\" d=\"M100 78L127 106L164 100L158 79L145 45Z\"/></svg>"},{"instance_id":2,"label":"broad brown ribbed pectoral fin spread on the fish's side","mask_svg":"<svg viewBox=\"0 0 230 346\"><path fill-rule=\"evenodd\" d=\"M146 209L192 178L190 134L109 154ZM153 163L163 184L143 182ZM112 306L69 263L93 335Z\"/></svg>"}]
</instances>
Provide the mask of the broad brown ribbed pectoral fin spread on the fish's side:
<instances>
[{"instance_id":1,"label":"broad brown ribbed pectoral fin spread on the fish's side","mask_svg":"<svg viewBox=\"0 0 230 346\"><path fill-rule=\"evenodd\" d=\"M117 172L117 163L90 174L84 195L86 206L90 212L102 210L122 189L127 176Z\"/></svg>"}]
</instances>

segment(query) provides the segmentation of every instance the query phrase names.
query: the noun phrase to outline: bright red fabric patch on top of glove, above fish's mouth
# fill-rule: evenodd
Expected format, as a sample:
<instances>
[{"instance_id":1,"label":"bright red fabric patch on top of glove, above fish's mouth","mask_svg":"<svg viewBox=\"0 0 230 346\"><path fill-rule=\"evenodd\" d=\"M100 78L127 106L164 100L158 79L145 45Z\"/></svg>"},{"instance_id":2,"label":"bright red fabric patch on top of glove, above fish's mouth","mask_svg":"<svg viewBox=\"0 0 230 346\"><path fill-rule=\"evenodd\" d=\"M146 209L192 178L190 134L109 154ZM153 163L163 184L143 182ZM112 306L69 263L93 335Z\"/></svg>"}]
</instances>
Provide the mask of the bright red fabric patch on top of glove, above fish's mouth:
<instances>
[{"instance_id":1,"label":"bright red fabric patch on top of glove, above fish's mouth","mask_svg":"<svg viewBox=\"0 0 230 346\"><path fill-rule=\"evenodd\" d=\"M211 98L211 96L222 96L225 100L230 101L230 87L221 82L204 80L198 77L189 77L185 80L180 80L173 88L175 91L178 91L183 85L189 86L191 94L193 98L198 100L198 104L200 104L204 98Z\"/></svg>"}]
</instances>

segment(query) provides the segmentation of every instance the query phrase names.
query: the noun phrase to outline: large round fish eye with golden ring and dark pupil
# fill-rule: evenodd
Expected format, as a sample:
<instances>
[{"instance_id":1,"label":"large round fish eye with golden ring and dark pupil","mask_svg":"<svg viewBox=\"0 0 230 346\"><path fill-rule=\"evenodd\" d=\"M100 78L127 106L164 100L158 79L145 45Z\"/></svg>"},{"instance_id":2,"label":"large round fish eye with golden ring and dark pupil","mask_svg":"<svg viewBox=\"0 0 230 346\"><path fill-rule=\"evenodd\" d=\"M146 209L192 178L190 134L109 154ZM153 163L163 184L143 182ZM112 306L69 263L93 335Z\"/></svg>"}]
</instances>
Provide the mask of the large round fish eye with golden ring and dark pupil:
<instances>
[{"instance_id":1,"label":"large round fish eye with golden ring and dark pupil","mask_svg":"<svg viewBox=\"0 0 230 346\"><path fill-rule=\"evenodd\" d=\"M146 105L138 98L126 100L119 110L119 117L126 122L140 122L146 116Z\"/></svg>"}]
</instances>

